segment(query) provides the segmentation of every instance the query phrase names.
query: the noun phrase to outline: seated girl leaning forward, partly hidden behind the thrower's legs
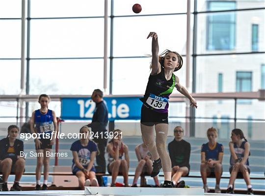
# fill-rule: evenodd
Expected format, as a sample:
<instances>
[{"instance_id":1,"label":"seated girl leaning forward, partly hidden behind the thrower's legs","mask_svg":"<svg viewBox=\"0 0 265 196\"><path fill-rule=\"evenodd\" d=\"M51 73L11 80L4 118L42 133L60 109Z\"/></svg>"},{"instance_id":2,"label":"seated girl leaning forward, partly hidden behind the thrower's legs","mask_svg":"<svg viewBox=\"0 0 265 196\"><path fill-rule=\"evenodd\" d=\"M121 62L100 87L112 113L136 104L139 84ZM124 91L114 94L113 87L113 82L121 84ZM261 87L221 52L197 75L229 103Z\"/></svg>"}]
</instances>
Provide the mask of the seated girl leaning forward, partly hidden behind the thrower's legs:
<instances>
[{"instance_id":1,"label":"seated girl leaning forward, partly hidden behind the thrower's legs","mask_svg":"<svg viewBox=\"0 0 265 196\"><path fill-rule=\"evenodd\" d=\"M135 170L132 187L137 187L137 180L142 173L151 175L153 158L145 143L141 143L135 147L135 154L138 159L138 165ZM154 177L155 184L159 187L158 176Z\"/></svg>"}]
</instances>

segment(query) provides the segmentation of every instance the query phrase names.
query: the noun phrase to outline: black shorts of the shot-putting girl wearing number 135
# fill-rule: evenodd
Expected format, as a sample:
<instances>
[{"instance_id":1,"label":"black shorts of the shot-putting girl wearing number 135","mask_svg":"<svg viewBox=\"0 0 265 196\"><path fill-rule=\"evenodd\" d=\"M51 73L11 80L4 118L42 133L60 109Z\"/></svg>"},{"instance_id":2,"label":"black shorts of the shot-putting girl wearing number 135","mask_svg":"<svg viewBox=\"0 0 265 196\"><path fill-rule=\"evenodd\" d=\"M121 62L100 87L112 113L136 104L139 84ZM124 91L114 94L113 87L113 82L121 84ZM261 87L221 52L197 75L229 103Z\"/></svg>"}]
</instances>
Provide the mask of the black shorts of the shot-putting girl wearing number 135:
<instances>
[{"instance_id":1,"label":"black shorts of the shot-putting girl wearing number 135","mask_svg":"<svg viewBox=\"0 0 265 196\"><path fill-rule=\"evenodd\" d=\"M168 124L168 112L155 112L143 104L141 108L141 124L146 126L154 126L161 123Z\"/></svg>"}]
</instances>

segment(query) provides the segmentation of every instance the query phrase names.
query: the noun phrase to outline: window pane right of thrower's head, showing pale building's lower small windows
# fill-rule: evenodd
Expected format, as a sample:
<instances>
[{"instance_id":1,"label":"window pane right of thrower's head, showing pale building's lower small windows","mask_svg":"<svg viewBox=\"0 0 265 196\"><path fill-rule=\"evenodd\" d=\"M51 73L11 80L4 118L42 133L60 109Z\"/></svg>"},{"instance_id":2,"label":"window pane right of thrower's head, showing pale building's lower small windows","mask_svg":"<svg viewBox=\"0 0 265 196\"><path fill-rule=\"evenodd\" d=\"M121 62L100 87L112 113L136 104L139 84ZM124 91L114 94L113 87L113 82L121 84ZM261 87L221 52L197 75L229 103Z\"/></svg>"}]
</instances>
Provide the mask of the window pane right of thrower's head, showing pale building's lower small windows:
<instances>
[{"instance_id":1,"label":"window pane right of thrower's head, showing pale building's lower small windows","mask_svg":"<svg viewBox=\"0 0 265 196\"><path fill-rule=\"evenodd\" d=\"M212 93L219 92L220 89L222 92L258 91L261 88L261 64L263 63L265 64L264 54L198 56L196 92ZM251 88L246 86L249 84L240 78L238 79L240 86L239 81L238 85L236 84L237 71L252 72L253 85ZM222 85L219 73L223 74Z\"/></svg>"}]
</instances>

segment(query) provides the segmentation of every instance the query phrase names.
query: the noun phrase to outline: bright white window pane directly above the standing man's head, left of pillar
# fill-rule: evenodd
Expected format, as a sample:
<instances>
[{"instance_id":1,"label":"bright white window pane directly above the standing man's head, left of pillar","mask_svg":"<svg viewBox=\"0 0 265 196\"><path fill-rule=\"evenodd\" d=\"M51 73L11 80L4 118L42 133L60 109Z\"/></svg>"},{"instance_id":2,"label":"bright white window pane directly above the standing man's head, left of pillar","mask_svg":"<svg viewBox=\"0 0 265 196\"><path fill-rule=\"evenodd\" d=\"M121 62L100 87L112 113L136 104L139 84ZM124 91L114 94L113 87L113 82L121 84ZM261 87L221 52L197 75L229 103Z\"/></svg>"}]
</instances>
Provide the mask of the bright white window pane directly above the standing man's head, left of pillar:
<instances>
[{"instance_id":1,"label":"bright white window pane directly above the standing man's head, left of pillar","mask_svg":"<svg viewBox=\"0 0 265 196\"><path fill-rule=\"evenodd\" d=\"M103 89L103 59L30 60L29 94L92 94Z\"/></svg>"}]
</instances>

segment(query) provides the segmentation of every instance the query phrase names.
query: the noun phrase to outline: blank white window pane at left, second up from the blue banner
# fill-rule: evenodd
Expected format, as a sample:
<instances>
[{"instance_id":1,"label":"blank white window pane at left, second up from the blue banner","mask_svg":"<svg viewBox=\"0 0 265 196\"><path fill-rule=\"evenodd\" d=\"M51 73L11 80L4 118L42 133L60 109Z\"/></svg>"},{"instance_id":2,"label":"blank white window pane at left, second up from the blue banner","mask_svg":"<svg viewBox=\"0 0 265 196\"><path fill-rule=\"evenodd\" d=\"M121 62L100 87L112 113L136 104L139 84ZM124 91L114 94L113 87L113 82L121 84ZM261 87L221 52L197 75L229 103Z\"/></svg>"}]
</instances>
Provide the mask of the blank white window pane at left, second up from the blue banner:
<instances>
[{"instance_id":1,"label":"blank white window pane at left, second up from the blue banner","mask_svg":"<svg viewBox=\"0 0 265 196\"><path fill-rule=\"evenodd\" d=\"M103 18L32 19L30 36L31 58L104 56Z\"/></svg>"}]
</instances>

